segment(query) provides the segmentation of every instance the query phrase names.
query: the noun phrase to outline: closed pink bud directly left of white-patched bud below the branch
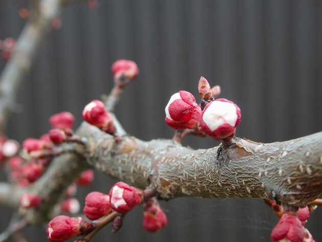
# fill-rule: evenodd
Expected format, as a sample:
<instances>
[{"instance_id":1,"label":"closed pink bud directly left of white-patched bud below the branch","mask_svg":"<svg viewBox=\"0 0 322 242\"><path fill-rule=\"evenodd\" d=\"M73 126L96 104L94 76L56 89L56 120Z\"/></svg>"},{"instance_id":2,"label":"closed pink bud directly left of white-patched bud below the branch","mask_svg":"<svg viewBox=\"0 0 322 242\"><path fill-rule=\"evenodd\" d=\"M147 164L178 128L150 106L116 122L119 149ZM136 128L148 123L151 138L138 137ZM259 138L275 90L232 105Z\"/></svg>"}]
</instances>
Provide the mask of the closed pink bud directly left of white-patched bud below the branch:
<instances>
[{"instance_id":1,"label":"closed pink bud directly left of white-patched bud below the branch","mask_svg":"<svg viewBox=\"0 0 322 242\"><path fill-rule=\"evenodd\" d=\"M84 214L88 219L97 220L112 211L108 195L102 192L92 191L86 196Z\"/></svg>"}]
</instances>

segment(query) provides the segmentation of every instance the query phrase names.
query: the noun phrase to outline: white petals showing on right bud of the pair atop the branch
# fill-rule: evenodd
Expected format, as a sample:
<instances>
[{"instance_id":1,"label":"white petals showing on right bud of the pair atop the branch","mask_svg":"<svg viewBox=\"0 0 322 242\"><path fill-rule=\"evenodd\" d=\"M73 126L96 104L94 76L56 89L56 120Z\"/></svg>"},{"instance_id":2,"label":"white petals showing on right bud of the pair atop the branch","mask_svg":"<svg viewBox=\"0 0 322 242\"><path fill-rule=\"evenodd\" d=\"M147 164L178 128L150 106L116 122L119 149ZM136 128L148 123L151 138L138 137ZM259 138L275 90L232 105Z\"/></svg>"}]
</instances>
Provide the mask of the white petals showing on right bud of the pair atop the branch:
<instances>
[{"instance_id":1,"label":"white petals showing on right bud of the pair atop the branch","mask_svg":"<svg viewBox=\"0 0 322 242\"><path fill-rule=\"evenodd\" d=\"M202 120L211 131L214 131L222 124L234 127L237 120L236 107L232 103L214 101L204 111Z\"/></svg>"}]
</instances>

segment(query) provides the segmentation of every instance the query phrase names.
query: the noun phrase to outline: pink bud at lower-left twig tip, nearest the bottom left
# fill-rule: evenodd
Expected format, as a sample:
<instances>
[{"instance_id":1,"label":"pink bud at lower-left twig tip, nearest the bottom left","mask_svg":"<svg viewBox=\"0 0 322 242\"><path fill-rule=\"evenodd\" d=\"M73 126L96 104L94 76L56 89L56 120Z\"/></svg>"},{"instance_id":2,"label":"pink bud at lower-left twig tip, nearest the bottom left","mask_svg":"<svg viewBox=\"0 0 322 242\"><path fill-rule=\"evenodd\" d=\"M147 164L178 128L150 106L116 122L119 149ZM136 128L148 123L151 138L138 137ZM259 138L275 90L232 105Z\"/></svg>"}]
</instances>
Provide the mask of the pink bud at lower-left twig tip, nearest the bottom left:
<instances>
[{"instance_id":1,"label":"pink bud at lower-left twig tip, nearest the bottom left","mask_svg":"<svg viewBox=\"0 0 322 242\"><path fill-rule=\"evenodd\" d=\"M52 219L47 226L49 241L61 242L81 235L80 228L83 219L81 217L68 217L59 215Z\"/></svg>"}]
</instances>

